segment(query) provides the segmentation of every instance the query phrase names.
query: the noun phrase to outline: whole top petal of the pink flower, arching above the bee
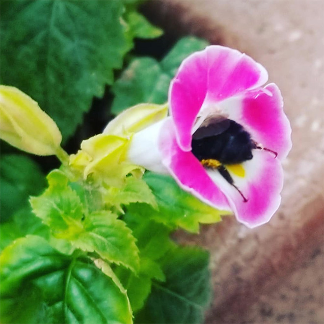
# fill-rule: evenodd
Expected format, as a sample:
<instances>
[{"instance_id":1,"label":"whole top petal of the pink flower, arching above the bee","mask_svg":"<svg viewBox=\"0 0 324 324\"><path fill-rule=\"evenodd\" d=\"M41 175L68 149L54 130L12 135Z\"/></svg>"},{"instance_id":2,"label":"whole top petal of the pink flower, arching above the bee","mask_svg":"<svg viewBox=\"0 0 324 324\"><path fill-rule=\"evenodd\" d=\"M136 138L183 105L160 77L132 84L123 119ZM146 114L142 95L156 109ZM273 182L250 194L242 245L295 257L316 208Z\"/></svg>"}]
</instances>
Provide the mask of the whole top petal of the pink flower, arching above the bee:
<instances>
[{"instance_id":1,"label":"whole top petal of the pink flower, arching above the bee","mask_svg":"<svg viewBox=\"0 0 324 324\"><path fill-rule=\"evenodd\" d=\"M265 68L239 51L212 45L191 54L182 62L169 89L170 114L179 146L190 151L191 130L202 106L215 105L267 80Z\"/></svg>"}]
</instances>

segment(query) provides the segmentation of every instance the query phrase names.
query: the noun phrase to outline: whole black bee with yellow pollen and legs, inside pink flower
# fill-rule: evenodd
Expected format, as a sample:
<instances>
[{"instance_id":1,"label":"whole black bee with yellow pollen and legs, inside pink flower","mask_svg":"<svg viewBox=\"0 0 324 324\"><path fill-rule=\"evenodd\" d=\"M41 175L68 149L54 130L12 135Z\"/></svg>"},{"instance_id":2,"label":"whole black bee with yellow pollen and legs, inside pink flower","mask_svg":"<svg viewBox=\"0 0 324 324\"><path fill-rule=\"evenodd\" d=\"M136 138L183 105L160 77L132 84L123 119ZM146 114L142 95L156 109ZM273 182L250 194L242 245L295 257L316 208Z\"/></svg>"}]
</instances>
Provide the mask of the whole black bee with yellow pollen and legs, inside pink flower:
<instances>
[{"instance_id":1,"label":"whole black bee with yellow pollen and legs, inside pink flower","mask_svg":"<svg viewBox=\"0 0 324 324\"><path fill-rule=\"evenodd\" d=\"M226 169L226 164L238 164L253 158L253 149L269 151L255 142L242 125L234 120L213 116L206 118L192 135L192 153L207 168L217 169L220 175L233 186L242 196L247 198L235 185L233 178Z\"/></svg>"}]
</instances>

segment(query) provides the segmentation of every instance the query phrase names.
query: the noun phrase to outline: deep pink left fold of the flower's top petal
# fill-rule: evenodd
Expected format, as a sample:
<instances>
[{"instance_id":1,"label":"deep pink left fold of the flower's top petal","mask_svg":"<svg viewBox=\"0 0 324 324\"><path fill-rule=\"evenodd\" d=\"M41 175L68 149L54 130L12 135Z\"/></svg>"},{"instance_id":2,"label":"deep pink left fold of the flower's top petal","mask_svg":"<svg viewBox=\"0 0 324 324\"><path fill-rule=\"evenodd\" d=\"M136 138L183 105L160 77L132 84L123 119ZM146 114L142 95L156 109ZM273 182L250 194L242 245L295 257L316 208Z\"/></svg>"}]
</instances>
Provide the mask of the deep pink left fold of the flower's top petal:
<instances>
[{"instance_id":1,"label":"deep pink left fold of the flower's top petal","mask_svg":"<svg viewBox=\"0 0 324 324\"><path fill-rule=\"evenodd\" d=\"M184 151L191 150L191 129L208 90L208 62L203 52L196 52L182 62L169 87L169 111Z\"/></svg>"}]
</instances>

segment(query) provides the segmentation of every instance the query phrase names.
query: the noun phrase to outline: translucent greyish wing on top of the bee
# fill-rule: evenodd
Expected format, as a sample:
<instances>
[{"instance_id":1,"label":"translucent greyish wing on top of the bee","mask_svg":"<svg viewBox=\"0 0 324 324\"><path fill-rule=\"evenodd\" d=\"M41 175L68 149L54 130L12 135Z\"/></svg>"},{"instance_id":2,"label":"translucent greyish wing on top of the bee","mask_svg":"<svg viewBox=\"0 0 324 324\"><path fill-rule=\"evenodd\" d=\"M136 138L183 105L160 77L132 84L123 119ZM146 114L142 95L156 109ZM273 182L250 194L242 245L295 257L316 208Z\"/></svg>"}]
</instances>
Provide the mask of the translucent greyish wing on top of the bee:
<instances>
[{"instance_id":1,"label":"translucent greyish wing on top of the bee","mask_svg":"<svg viewBox=\"0 0 324 324\"><path fill-rule=\"evenodd\" d=\"M200 127L193 133L193 139L219 135L230 127L230 120L223 116L207 117Z\"/></svg>"}]
</instances>

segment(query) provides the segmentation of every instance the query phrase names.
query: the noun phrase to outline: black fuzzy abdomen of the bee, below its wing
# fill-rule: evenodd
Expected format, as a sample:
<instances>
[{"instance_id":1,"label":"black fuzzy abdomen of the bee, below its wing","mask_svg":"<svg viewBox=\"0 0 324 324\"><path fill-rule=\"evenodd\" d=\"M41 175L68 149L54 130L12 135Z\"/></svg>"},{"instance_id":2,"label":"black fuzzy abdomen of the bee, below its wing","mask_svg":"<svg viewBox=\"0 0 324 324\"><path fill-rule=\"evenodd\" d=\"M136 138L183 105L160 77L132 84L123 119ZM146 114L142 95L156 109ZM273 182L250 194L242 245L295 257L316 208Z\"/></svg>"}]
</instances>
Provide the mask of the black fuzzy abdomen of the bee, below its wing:
<instances>
[{"instance_id":1,"label":"black fuzzy abdomen of the bee, below its wing","mask_svg":"<svg viewBox=\"0 0 324 324\"><path fill-rule=\"evenodd\" d=\"M192 153L199 160L213 159L224 164L242 163L253 158L255 144L243 126L230 120L221 134L192 139Z\"/></svg>"}]
</instances>

